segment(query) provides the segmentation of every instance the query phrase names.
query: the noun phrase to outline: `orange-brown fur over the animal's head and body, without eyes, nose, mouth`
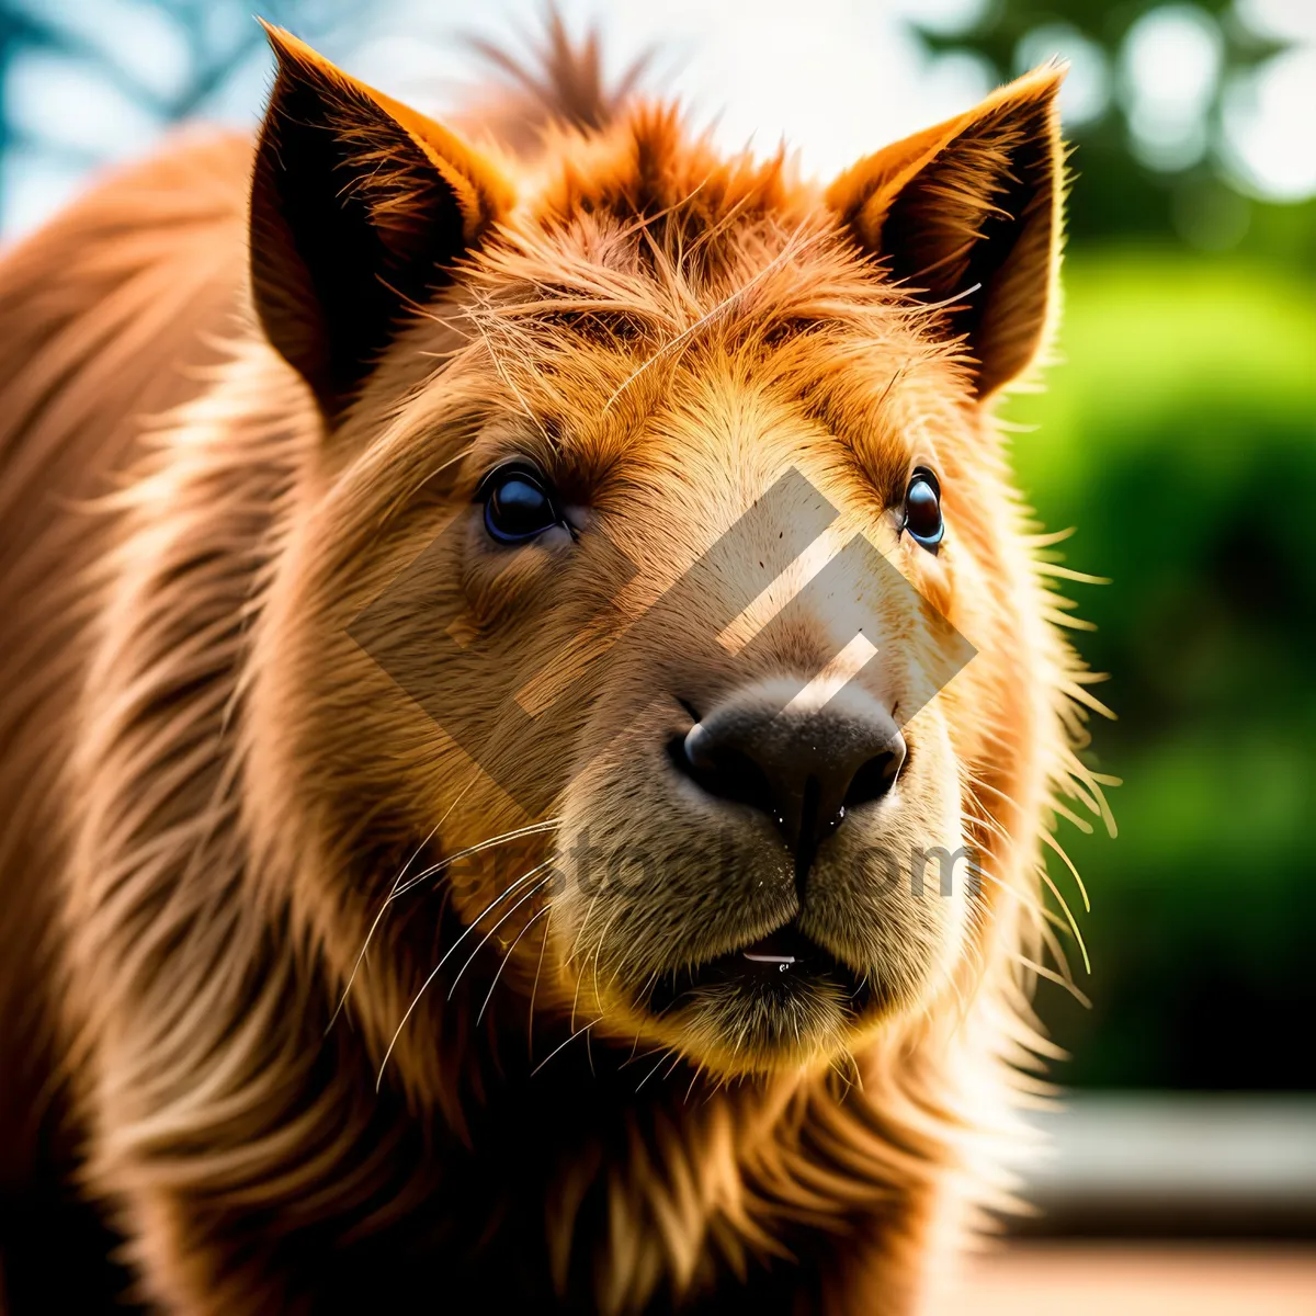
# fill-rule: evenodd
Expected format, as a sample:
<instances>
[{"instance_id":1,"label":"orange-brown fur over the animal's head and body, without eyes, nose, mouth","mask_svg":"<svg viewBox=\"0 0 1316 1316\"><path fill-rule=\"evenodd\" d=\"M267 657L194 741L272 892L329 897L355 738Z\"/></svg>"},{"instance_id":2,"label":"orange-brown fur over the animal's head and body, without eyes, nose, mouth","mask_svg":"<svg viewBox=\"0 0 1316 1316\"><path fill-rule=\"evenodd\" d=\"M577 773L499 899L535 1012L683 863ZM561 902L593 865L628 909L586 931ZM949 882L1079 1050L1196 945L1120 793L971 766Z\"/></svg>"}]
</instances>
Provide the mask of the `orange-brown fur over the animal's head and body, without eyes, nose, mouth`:
<instances>
[{"instance_id":1,"label":"orange-brown fur over the animal's head and body, without eyes, nose, mouth","mask_svg":"<svg viewBox=\"0 0 1316 1316\"><path fill-rule=\"evenodd\" d=\"M782 159L717 158L669 107L612 104L588 62L590 113L497 157L274 41L250 297L241 141L107 180L0 267L16 1217L53 1137L51 1173L76 1175L167 1311L417 1292L457 1311L912 1311L1004 1200L994 1146L1045 1050L1028 998L1053 973L1054 796L1104 812L1073 747L1099 705L991 420L1048 328L1057 75L822 195ZM299 174L320 150L322 176ZM324 197L343 226L317 247L303 212ZM346 313L325 280L353 278ZM513 453L605 541L508 557L441 536ZM891 511L919 462L945 491L936 558ZM540 679L565 682L787 467L979 654L907 728L890 829L854 820L811 878L801 917L873 974L873 1008L822 996L790 1029L719 1000L659 1019L646 983L761 936L795 896L747 834L715 878L712 832L665 786L679 709L654 691L807 679L833 651L825 620L791 615L740 666L696 644L697 608L619 645L595 697L505 746L551 801L538 820L399 682L479 716L478 674L429 659L449 626L497 637L526 679L562 654ZM436 537L433 570L407 576ZM611 612L604 542L638 569ZM741 638L800 583L796 563ZM890 641L865 679L899 695L932 633L903 594L845 586ZM353 629L372 604L387 675ZM655 855L657 876L499 903L587 830ZM861 840L969 840L980 891L879 890Z\"/></svg>"}]
</instances>

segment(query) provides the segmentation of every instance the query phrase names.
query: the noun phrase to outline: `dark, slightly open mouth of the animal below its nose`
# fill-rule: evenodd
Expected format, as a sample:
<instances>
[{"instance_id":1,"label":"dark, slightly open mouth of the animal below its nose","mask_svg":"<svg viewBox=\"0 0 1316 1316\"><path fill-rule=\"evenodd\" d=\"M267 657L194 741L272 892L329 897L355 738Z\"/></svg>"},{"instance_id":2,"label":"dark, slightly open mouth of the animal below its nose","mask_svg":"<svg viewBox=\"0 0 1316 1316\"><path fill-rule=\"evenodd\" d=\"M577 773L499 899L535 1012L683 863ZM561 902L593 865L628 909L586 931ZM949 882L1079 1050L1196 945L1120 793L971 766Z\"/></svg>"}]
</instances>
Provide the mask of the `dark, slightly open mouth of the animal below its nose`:
<instances>
[{"instance_id":1,"label":"dark, slightly open mouth of the animal below its nose","mask_svg":"<svg viewBox=\"0 0 1316 1316\"><path fill-rule=\"evenodd\" d=\"M797 996L840 996L848 1013L862 1015L873 1000L873 987L791 920L766 937L705 963L667 974L649 992L646 1005L666 1015L712 990L734 990L771 1003Z\"/></svg>"}]
</instances>

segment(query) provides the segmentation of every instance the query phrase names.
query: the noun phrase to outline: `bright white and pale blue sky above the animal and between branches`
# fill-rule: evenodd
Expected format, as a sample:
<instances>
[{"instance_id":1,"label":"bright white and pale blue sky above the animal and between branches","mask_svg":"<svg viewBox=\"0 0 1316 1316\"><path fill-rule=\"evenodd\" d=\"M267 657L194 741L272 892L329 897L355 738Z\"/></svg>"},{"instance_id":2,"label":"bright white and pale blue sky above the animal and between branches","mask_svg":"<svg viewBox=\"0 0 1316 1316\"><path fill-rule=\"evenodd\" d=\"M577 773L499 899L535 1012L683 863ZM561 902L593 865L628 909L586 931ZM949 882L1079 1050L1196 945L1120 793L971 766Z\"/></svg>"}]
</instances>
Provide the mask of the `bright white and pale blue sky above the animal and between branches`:
<instances>
[{"instance_id":1,"label":"bright white and pale blue sky above the animal and between branches","mask_svg":"<svg viewBox=\"0 0 1316 1316\"><path fill-rule=\"evenodd\" d=\"M929 58L905 20L955 28L992 0L562 0L576 30L601 17L615 68L655 47L651 84L678 93L728 149L769 153L784 139L805 172L828 178L888 141L969 108L990 89L969 55ZM14 141L0 161L0 236L39 224L91 171L150 150L168 103L193 80L195 58L167 5L150 0L11 0L68 34L70 49L28 47L0 95ZM1316 193L1316 0L1236 0L1242 21L1295 45L1227 89L1217 150L1248 190L1299 200ZM204 118L254 128L270 79L250 41L250 9L205 11L216 50L249 55L203 100ZM538 0L376 0L324 53L354 75L441 116L478 71L458 39L524 49ZM1174 167L1208 149L1202 112L1219 76L1219 32L1191 7L1166 4L1130 34L1115 67L1083 38L1048 28L1017 53L1016 71L1054 54L1071 61L1062 103L1071 122L1111 97L1129 109L1133 146Z\"/></svg>"}]
</instances>

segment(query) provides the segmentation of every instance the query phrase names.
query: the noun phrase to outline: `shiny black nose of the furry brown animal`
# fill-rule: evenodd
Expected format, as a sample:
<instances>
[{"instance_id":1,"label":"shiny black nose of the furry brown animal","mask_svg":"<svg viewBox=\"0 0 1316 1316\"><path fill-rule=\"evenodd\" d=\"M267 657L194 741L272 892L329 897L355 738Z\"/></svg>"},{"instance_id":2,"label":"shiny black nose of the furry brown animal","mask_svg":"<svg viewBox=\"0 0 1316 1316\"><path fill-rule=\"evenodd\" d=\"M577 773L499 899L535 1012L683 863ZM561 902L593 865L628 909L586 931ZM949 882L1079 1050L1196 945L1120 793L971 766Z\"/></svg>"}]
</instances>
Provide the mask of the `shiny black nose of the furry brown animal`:
<instances>
[{"instance_id":1,"label":"shiny black nose of the furry brown animal","mask_svg":"<svg viewBox=\"0 0 1316 1316\"><path fill-rule=\"evenodd\" d=\"M804 870L846 812L887 795L905 742L876 699L844 687L821 708L788 704L794 687L740 691L674 744L676 767L722 800L766 813Z\"/></svg>"}]
</instances>

